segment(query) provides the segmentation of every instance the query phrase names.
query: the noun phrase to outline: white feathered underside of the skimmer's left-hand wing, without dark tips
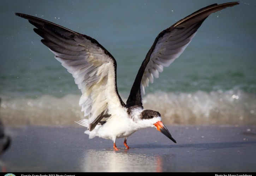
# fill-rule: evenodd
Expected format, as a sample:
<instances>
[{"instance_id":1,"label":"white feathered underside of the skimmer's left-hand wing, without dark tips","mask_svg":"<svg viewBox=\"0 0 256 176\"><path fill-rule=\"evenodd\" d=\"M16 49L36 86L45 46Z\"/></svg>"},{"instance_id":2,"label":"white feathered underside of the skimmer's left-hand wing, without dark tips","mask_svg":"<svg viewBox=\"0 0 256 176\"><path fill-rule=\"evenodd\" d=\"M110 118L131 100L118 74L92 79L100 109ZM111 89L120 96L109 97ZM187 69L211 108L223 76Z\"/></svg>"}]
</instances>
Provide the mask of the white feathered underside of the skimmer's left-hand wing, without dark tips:
<instances>
[{"instance_id":1,"label":"white feathered underside of the skimmer's left-hand wing, without dark tips","mask_svg":"<svg viewBox=\"0 0 256 176\"><path fill-rule=\"evenodd\" d=\"M92 124L99 117L111 114L109 109L114 111L122 107L115 89L114 63L103 49L90 40L78 37L74 40L76 46L63 46L69 49L66 53L50 51L75 78L75 83L83 94L79 105L82 106L84 116L89 117L88 124Z\"/></svg>"}]
</instances>

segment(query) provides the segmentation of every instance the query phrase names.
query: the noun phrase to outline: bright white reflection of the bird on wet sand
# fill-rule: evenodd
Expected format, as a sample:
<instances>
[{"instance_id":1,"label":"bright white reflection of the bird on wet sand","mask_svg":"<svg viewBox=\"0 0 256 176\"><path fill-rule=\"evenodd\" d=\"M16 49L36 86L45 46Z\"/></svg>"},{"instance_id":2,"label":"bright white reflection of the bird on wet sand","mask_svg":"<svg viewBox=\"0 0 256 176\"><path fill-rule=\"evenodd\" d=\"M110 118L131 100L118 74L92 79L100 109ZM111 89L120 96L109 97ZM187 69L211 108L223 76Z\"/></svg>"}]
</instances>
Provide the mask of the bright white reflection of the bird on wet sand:
<instances>
[{"instance_id":1,"label":"bright white reflection of the bird on wet sand","mask_svg":"<svg viewBox=\"0 0 256 176\"><path fill-rule=\"evenodd\" d=\"M136 151L136 149L132 149ZM136 153L128 149L88 150L84 156L83 171L102 172L162 172L163 157ZM174 155L170 156L171 158Z\"/></svg>"}]
</instances>

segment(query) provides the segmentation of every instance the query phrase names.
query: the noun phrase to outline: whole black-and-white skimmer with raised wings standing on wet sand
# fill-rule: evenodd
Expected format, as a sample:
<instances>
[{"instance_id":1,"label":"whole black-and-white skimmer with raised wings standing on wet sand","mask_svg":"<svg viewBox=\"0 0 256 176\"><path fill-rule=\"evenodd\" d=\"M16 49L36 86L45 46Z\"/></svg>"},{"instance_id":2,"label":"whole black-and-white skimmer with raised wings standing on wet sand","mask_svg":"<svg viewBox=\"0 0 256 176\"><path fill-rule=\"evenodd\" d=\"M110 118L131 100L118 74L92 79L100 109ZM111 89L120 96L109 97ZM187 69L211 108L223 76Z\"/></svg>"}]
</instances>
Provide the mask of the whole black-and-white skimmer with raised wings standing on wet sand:
<instances>
[{"instance_id":1,"label":"whole black-and-white skimmer with raised wings standing on wet sand","mask_svg":"<svg viewBox=\"0 0 256 176\"><path fill-rule=\"evenodd\" d=\"M117 62L99 42L50 21L22 13L16 15L28 19L36 27L34 31L43 38L41 42L75 78L82 92L79 105L84 116L88 116L77 123L87 127L85 133L89 138L111 139L114 149L118 150L117 138L125 138L124 145L129 149L127 137L148 127L156 127L176 143L163 125L160 113L143 108L144 88L149 82L153 83L154 77L159 77L163 67L168 67L181 55L211 13L238 4L209 5L160 32L139 68L126 104L117 90Z\"/></svg>"}]
</instances>

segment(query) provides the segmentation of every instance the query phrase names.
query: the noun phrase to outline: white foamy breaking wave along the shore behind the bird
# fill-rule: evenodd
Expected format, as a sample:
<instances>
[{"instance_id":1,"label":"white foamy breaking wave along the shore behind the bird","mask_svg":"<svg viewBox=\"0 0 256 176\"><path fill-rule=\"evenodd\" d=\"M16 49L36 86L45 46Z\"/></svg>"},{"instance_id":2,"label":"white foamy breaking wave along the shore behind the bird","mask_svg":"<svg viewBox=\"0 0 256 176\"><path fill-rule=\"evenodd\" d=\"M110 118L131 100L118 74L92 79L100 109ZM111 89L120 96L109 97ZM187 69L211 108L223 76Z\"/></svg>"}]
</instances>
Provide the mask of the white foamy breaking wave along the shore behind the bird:
<instances>
[{"instance_id":1,"label":"white foamy breaking wave along the shore behind the bird","mask_svg":"<svg viewBox=\"0 0 256 176\"><path fill-rule=\"evenodd\" d=\"M77 125L83 119L80 95L63 98L44 95L37 99L2 97L0 116L6 125ZM126 99L124 99L126 101ZM256 95L242 90L226 92L147 94L145 109L159 111L165 124L256 125Z\"/></svg>"}]
</instances>

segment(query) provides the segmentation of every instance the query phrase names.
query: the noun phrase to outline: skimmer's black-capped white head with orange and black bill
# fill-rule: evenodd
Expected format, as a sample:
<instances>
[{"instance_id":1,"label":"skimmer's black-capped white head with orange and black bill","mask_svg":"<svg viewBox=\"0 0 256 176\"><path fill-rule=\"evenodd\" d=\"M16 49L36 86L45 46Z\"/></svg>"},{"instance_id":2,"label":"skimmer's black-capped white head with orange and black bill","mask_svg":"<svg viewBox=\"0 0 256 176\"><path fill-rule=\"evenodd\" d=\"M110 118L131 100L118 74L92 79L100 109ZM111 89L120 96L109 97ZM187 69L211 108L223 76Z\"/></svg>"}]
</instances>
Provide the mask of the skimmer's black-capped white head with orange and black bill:
<instances>
[{"instance_id":1,"label":"skimmer's black-capped white head with orange and black bill","mask_svg":"<svg viewBox=\"0 0 256 176\"><path fill-rule=\"evenodd\" d=\"M141 112L141 120L141 122L144 125L147 125L147 127L155 127L158 131L176 143L166 126L163 125L161 114L159 112L145 109Z\"/></svg>"}]
</instances>

